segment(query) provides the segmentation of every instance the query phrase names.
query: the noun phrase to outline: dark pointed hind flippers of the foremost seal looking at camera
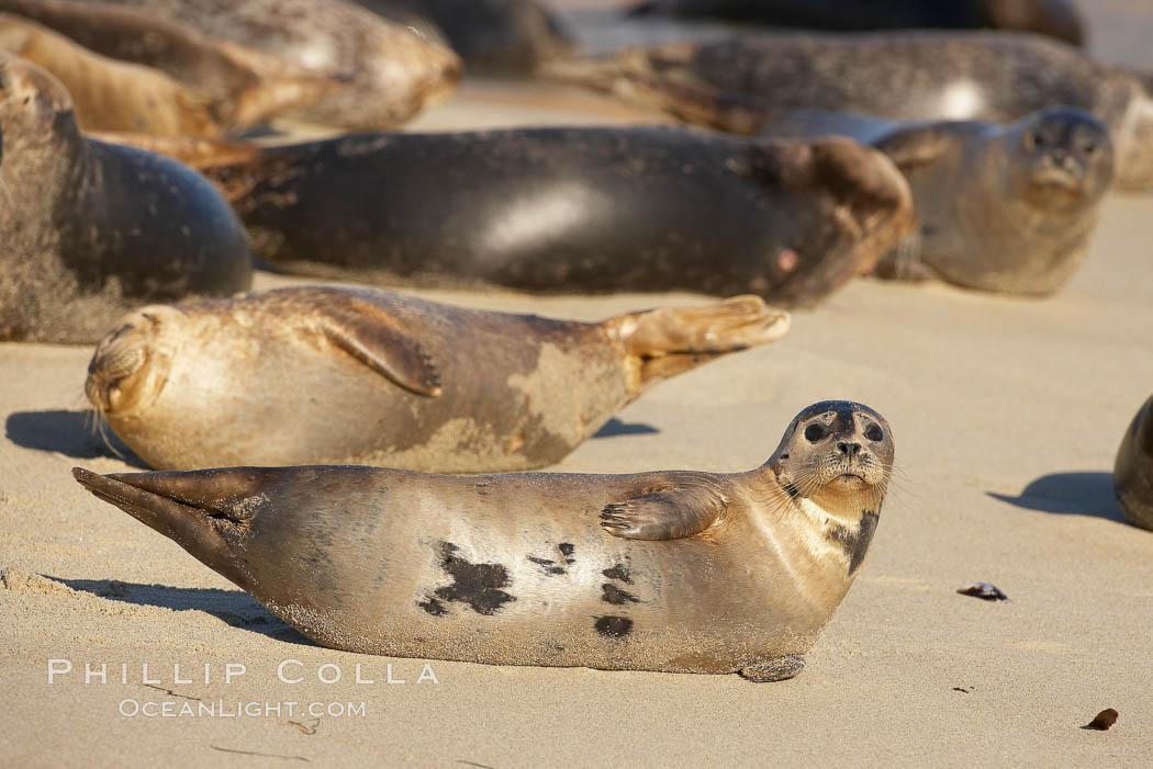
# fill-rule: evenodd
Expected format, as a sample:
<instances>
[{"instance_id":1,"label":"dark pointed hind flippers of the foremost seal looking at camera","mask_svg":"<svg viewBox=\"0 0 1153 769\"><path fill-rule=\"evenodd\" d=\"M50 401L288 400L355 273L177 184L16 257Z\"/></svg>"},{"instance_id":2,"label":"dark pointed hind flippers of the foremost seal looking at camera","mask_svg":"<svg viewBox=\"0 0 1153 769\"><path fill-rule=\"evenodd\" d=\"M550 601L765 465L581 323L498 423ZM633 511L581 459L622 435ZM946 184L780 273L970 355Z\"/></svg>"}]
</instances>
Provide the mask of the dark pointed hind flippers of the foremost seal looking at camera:
<instances>
[{"instance_id":1,"label":"dark pointed hind flippers of the foremost seal looking at camera","mask_svg":"<svg viewBox=\"0 0 1153 769\"><path fill-rule=\"evenodd\" d=\"M247 525L242 513L235 505L232 505L233 509L228 505L213 509L190 504L179 497L180 490L188 490L189 482L197 479L202 489L212 489L218 498L233 490L225 488L227 485L205 482L204 474L219 471L100 475L83 467L73 467L73 478L97 498L160 532L212 570L244 587L243 576L238 571L227 541L235 539L238 528ZM166 486L173 482L175 488L167 489ZM236 502L235 498L233 501Z\"/></svg>"}]
</instances>

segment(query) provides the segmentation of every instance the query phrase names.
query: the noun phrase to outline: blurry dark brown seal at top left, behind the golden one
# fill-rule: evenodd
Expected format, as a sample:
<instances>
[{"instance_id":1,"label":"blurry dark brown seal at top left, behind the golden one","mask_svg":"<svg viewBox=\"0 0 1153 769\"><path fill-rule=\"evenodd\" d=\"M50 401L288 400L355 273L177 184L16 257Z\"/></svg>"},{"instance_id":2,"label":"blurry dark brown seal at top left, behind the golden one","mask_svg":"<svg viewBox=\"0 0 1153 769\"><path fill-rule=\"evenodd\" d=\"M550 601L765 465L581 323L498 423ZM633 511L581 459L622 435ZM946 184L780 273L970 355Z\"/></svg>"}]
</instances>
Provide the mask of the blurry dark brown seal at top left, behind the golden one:
<instances>
[{"instance_id":1,"label":"blurry dark brown seal at top left, behind the golden one","mask_svg":"<svg viewBox=\"0 0 1153 769\"><path fill-rule=\"evenodd\" d=\"M316 102L340 85L332 77L307 71L284 58L209 39L187 26L131 8L83 0L0 0L0 10L32 20L89 52L169 76L190 89L209 111L214 127L205 131L208 136L218 134L217 127L240 130L265 122L293 107ZM42 63L50 66L47 60ZM65 79L91 76L73 71ZM159 86L129 79L126 87L129 93L97 91L84 99L91 98L96 106L107 111L110 106L103 105L103 99L112 98L114 104L146 99ZM193 127L183 124L182 129Z\"/></svg>"}]
</instances>

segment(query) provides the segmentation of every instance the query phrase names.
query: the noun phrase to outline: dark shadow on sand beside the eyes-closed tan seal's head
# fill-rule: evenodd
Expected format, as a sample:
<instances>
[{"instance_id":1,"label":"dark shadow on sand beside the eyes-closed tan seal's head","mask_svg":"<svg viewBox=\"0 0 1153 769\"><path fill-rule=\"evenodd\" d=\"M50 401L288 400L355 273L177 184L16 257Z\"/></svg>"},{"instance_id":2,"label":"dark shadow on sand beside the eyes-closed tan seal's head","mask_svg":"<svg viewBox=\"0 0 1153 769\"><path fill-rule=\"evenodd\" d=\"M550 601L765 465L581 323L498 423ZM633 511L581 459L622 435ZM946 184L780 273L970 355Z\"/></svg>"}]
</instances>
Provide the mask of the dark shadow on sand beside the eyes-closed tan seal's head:
<instances>
[{"instance_id":1,"label":"dark shadow on sand beside the eyes-closed tan seal's head","mask_svg":"<svg viewBox=\"0 0 1153 769\"><path fill-rule=\"evenodd\" d=\"M108 457L149 469L107 426L101 437L93 420L90 411L16 411L8 416L5 432L9 441L25 449L55 451L73 459Z\"/></svg>"}]
</instances>

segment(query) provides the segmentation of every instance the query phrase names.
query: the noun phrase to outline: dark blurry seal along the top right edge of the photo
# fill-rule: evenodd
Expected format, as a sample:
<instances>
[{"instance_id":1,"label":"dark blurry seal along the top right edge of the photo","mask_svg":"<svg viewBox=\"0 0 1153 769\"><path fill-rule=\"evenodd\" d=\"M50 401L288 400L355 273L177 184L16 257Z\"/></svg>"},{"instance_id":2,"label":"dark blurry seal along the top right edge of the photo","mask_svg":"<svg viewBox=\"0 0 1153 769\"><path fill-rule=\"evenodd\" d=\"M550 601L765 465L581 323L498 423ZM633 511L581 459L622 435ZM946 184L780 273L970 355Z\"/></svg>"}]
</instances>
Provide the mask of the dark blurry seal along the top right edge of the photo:
<instances>
[{"instance_id":1,"label":"dark blurry seal along the top right edge of the photo","mask_svg":"<svg viewBox=\"0 0 1153 769\"><path fill-rule=\"evenodd\" d=\"M1082 45L1085 29L1069 0L645 0L631 16L724 18L838 31L1007 29Z\"/></svg>"}]
</instances>

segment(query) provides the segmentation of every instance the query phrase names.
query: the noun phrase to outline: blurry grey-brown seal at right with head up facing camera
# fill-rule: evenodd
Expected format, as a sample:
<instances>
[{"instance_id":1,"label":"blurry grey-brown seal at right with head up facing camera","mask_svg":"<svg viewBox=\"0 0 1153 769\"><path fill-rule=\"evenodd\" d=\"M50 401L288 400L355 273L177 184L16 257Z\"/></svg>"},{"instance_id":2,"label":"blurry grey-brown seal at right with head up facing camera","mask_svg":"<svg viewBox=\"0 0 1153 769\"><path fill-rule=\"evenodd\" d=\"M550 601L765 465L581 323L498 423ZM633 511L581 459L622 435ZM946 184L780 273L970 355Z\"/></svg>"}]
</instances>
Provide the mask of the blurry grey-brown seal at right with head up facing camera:
<instances>
[{"instance_id":1,"label":"blurry grey-brown seal at right with head up facing camera","mask_svg":"<svg viewBox=\"0 0 1153 769\"><path fill-rule=\"evenodd\" d=\"M1114 176L1109 129L1070 107L1011 125L799 111L766 132L851 136L884 152L909 180L918 227L877 274L986 291L1045 296L1063 287L1085 258Z\"/></svg>"}]
</instances>

